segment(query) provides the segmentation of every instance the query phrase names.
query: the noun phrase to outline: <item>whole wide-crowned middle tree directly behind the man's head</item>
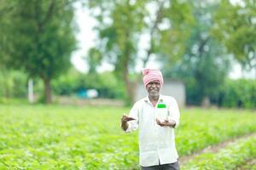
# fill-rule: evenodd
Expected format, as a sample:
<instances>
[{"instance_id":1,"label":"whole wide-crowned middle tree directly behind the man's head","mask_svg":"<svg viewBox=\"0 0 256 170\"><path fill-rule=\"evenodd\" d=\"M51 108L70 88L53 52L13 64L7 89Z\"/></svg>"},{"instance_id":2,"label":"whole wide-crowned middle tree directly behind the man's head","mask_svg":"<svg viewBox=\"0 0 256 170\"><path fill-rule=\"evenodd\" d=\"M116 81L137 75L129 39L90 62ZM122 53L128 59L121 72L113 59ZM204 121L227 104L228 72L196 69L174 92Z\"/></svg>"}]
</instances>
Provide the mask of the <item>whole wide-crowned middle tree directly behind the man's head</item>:
<instances>
[{"instance_id":1,"label":"whole wide-crowned middle tree directly behind the man's head","mask_svg":"<svg viewBox=\"0 0 256 170\"><path fill-rule=\"evenodd\" d=\"M176 48L175 52L182 49L177 49L176 44L181 44L186 37L187 33L183 32L189 32L184 31L191 16L189 6L178 0L99 0L90 1L89 6L94 11L102 11L94 13L100 39L96 48L102 59L107 58L114 65L115 75L125 83L127 101L131 103L139 78L131 78L136 64L141 61L146 66L153 54L171 57L173 51L170 47ZM164 29L160 27L163 25L166 26ZM139 56L138 42L143 34L149 37L149 42L143 42L146 46L148 43L148 48L143 56ZM181 34L183 38L177 38Z\"/></svg>"}]
</instances>

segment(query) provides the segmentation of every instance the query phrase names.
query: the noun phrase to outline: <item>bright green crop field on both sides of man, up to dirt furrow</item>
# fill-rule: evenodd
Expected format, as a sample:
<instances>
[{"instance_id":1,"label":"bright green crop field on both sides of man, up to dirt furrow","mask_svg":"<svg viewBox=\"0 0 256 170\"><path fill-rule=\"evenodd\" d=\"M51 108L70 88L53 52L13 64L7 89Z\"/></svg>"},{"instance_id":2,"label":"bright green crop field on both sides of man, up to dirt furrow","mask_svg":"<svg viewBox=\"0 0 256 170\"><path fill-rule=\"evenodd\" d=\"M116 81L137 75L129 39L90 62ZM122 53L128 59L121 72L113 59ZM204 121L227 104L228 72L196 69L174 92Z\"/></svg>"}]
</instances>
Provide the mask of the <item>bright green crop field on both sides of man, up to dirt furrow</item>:
<instances>
[{"instance_id":1,"label":"bright green crop field on both sides of man, up to dirt furrow","mask_svg":"<svg viewBox=\"0 0 256 170\"><path fill-rule=\"evenodd\" d=\"M137 133L126 134L119 127L120 117L128 111L106 106L0 105L0 169L138 169ZM176 130L179 156L255 133L253 112L181 110ZM255 144L251 148L256 150Z\"/></svg>"}]
</instances>

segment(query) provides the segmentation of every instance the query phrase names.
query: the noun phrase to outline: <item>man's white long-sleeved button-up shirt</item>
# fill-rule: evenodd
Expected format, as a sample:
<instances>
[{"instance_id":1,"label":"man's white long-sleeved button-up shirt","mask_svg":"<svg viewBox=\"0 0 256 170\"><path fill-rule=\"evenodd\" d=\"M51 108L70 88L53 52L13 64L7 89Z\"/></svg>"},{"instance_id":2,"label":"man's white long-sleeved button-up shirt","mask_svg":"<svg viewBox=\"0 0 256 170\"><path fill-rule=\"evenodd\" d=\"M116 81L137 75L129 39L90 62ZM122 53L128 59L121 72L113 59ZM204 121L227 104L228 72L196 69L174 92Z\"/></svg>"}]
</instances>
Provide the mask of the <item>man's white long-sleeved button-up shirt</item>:
<instances>
[{"instance_id":1,"label":"man's white long-sleeved button-up shirt","mask_svg":"<svg viewBox=\"0 0 256 170\"><path fill-rule=\"evenodd\" d=\"M158 108L163 103L166 108ZM175 136L173 127L160 127L155 121L160 114L166 113L166 119L179 123L179 110L176 99L160 95L158 103L153 106L148 96L138 100L131 108L129 116L136 120L128 122L126 133L139 129L140 165L149 167L154 165L173 163L177 161ZM162 117L161 117L162 118Z\"/></svg>"}]
</instances>

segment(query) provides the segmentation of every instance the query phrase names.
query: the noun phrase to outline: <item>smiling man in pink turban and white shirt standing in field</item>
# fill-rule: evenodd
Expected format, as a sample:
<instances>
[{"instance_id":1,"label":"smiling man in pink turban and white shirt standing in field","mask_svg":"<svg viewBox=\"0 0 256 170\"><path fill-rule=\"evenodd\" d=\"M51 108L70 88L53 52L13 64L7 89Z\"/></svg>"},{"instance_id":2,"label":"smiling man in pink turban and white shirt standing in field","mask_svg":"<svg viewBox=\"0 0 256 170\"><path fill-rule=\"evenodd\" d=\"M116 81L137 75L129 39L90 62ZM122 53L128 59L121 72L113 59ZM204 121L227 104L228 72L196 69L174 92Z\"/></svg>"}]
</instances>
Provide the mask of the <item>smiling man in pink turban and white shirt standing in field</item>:
<instances>
[{"instance_id":1,"label":"smiling man in pink turban and white shirt standing in field","mask_svg":"<svg viewBox=\"0 0 256 170\"><path fill-rule=\"evenodd\" d=\"M179 169L174 128L179 123L176 99L160 95L163 77L160 71L143 70L148 96L138 100L129 116L123 115L121 127L126 133L139 129L140 165L143 170Z\"/></svg>"}]
</instances>

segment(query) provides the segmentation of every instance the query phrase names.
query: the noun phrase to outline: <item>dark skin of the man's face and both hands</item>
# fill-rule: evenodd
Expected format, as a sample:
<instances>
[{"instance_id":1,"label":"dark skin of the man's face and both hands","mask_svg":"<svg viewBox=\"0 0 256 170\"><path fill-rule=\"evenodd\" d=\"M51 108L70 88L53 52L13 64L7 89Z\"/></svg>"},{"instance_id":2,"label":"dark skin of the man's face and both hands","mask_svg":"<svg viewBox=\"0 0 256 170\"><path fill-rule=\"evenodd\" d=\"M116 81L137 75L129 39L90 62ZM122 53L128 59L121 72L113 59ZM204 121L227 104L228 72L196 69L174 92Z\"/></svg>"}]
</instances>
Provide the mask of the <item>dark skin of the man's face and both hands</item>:
<instances>
[{"instance_id":1,"label":"dark skin of the man's face and both hands","mask_svg":"<svg viewBox=\"0 0 256 170\"><path fill-rule=\"evenodd\" d=\"M160 96L160 82L159 81L152 81L149 82L146 86L146 90L148 91L148 98L153 106L155 106L158 102L159 96ZM125 114L122 116L121 119L121 127L126 130L128 128L129 121L135 120L135 118L126 116ZM156 118L156 123L160 125L160 127L174 127L175 122L174 121L168 121L165 120L164 122L160 122L159 119Z\"/></svg>"}]
</instances>

